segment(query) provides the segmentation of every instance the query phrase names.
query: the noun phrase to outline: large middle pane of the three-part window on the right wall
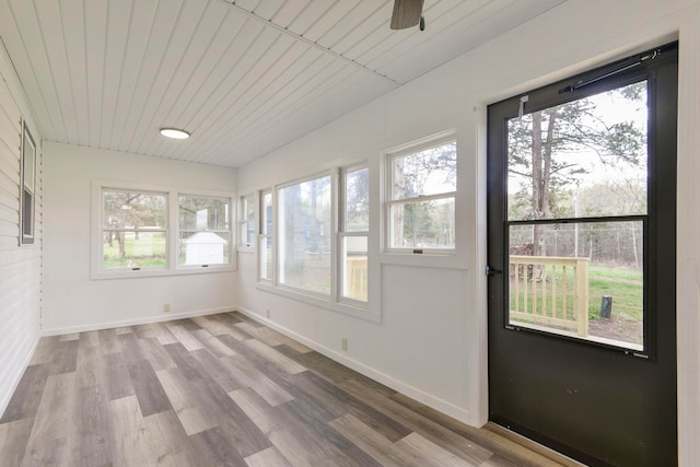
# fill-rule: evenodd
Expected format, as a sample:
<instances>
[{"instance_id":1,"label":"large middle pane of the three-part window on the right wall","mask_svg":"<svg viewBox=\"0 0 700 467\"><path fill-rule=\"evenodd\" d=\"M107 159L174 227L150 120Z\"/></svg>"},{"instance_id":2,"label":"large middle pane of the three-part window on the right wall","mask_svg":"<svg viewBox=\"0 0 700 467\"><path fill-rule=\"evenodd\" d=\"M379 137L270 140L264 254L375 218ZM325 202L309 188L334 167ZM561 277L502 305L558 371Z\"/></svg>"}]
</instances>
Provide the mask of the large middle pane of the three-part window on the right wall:
<instances>
[{"instance_id":1,"label":"large middle pane of the three-part window on the right wall","mask_svg":"<svg viewBox=\"0 0 700 467\"><path fill-rule=\"evenodd\" d=\"M279 190L280 283L330 293L330 176Z\"/></svg>"}]
</instances>

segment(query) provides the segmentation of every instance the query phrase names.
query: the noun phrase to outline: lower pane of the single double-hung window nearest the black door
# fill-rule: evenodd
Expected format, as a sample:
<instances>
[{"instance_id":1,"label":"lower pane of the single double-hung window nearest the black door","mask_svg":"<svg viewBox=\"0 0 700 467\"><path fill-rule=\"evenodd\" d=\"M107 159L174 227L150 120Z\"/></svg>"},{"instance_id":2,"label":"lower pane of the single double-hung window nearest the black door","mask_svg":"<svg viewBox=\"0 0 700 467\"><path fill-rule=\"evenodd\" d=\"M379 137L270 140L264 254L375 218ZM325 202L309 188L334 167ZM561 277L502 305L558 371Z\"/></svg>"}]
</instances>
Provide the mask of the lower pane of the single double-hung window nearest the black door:
<instances>
[{"instance_id":1,"label":"lower pane of the single double-hung window nearest the black door","mask_svg":"<svg viewBox=\"0 0 700 467\"><path fill-rule=\"evenodd\" d=\"M455 199L392 205L392 248L454 248Z\"/></svg>"}]
</instances>

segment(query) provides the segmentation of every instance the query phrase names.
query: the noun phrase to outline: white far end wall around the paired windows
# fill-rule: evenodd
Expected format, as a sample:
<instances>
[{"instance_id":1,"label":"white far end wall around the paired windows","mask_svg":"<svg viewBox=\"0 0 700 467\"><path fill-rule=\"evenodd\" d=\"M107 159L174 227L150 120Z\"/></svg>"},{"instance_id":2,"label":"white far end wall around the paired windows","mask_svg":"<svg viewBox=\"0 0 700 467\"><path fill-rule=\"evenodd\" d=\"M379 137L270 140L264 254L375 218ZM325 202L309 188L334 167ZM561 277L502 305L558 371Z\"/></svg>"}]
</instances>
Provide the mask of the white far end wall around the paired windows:
<instances>
[{"instance_id":1,"label":"white far end wall around the paired windows","mask_svg":"<svg viewBox=\"0 0 700 467\"><path fill-rule=\"evenodd\" d=\"M234 308L235 272L91 280L90 257L93 180L233 192L234 170L52 142L44 153L45 335Z\"/></svg>"}]
</instances>

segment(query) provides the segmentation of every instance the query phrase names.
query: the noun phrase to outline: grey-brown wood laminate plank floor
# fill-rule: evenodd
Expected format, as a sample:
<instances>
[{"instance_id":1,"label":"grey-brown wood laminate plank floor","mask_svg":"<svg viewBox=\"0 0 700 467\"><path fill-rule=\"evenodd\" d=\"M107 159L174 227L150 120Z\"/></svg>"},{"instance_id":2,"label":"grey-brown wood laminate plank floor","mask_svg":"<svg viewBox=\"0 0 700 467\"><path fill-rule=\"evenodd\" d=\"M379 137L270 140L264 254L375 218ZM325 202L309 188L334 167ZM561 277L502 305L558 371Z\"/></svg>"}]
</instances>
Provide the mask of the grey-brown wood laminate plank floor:
<instances>
[{"instance_id":1,"label":"grey-brown wood laminate plank floor","mask_svg":"<svg viewBox=\"0 0 700 467\"><path fill-rule=\"evenodd\" d=\"M43 338L0 466L553 466L237 313Z\"/></svg>"}]
</instances>

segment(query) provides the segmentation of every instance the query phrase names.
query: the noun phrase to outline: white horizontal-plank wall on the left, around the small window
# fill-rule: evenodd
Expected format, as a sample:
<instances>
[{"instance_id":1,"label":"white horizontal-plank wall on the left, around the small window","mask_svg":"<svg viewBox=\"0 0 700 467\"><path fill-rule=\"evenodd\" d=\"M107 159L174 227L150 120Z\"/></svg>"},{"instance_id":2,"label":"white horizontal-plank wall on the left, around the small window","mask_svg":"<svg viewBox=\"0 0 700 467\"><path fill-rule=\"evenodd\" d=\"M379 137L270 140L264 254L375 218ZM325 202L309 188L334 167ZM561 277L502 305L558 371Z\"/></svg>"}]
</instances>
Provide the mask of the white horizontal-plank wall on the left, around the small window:
<instances>
[{"instance_id":1,"label":"white horizontal-plank wall on the left, around the small window","mask_svg":"<svg viewBox=\"0 0 700 467\"><path fill-rule=\"evenodd\" d=\"M19 246L21 120L37 143L35 243ZM39 337L42 293L42 135L0 43L0 416Z\"/></svg>"}]
</instances>

